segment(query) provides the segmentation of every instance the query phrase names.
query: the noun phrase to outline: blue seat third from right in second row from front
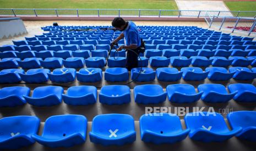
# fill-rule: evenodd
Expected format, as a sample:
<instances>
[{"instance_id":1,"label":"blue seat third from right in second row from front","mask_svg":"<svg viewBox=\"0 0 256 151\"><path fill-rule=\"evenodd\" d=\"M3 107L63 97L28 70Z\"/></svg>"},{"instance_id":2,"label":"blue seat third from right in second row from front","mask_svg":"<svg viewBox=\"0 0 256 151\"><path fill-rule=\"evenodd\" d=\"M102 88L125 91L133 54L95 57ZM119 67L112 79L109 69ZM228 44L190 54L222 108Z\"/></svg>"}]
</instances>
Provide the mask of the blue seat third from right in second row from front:
<instances>
[{"instance_id":1,"label":"blue seat third from right in second row from front","mask_svg":"<svg viewBox=\"0 0 256 151\"><path fill-rule=\"evenodd\" d=\"M195 92L190 84L171 84L166 87L168 99L174 103L192 103L198 101L203 92Z\"/></svg>"}]
</instances>

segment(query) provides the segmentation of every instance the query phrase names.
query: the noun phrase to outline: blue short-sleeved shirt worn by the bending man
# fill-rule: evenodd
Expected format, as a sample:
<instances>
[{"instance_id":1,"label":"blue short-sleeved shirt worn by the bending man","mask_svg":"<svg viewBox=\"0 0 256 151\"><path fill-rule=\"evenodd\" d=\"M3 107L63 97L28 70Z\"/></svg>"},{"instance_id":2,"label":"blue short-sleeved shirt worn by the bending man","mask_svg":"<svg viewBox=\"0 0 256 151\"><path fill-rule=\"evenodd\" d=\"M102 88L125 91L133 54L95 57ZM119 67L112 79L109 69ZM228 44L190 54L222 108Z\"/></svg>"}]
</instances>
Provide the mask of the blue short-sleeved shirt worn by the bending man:
<instances>
[{"instance_id":1,"label":"blue short-sleeved shirt worn by the bending man","mask_svg":"<svg viewBox=\"0 0 256 151\"><path fill-rule=\"evenodd\" d=\"M132 21L128 21L128 26L123 31L124 38L126 38L126 45L137 45L140 47L140 36L137 26Z\"/></svg>"}]
</instances>

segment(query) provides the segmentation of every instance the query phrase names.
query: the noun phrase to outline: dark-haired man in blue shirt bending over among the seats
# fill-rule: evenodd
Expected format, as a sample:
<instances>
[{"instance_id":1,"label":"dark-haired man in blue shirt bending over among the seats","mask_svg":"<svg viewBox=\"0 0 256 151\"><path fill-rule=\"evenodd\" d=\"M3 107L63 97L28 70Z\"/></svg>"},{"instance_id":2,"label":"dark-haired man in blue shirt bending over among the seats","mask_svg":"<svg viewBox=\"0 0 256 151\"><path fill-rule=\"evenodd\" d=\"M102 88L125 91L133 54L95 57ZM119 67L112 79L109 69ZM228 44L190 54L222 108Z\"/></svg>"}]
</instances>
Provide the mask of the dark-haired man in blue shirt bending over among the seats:
<instances>
[{"instance_id":1,"label":"dark-haired man in blue shirt bending over among the seats","mask_svg":"<svg viewBox=\"0 0 256 151\"><path fill-rule=\"evenodd\" d=\"M137 26L132 21L124 21L122 18L115 18L112 21L112 26L122 33L113 40L112 44L117 43L119 40L125 38L126 45L120 46L117 51L122 49L132 49L134 52L128 50L126 57L126 68L130 71L132 68L138 67L138 54L141 46L141 40Z\"/></svg>"}]
</instances>

